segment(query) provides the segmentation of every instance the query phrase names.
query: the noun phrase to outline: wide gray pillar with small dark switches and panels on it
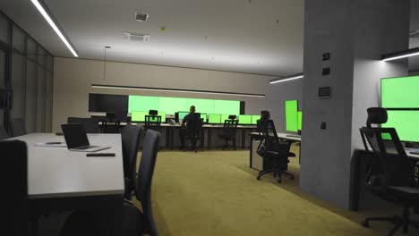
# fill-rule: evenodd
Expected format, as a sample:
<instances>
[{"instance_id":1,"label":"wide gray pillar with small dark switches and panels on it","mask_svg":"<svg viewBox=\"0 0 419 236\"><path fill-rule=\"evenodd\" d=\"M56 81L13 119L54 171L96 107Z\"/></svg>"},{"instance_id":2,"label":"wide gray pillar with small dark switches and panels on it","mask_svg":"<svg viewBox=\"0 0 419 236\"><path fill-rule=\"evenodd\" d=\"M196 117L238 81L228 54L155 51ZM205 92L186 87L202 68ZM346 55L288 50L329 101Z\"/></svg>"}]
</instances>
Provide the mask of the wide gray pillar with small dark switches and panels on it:
<instances>
[{"instance_id":1,"label":"wide gray pillar with small dark switches and panels on it","mask_svg":"<svg viewBox=\"0 0 419 236\"><path fill-rule=\"evenodd\" d=\"M303 190L348 207L350 160L365 109L377 105L381 77L406 74L406 63L380 59L406 46L408 17L406 0L305 1ZM325 52L329 62L321 62ZM323 77L327 66L331 74ZM329 99L317 97L322 86L331 86Z\"/></svg>"}]
</instances>

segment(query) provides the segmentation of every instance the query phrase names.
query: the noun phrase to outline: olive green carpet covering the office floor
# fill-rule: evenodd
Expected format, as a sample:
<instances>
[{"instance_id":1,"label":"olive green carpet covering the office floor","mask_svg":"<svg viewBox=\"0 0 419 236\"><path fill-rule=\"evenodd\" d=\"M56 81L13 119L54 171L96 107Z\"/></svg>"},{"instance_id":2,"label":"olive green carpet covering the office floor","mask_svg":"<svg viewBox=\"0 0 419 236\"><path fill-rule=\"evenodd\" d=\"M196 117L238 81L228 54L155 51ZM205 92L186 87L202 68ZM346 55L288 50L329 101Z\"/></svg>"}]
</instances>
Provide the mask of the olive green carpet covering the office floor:
<instances>
[{"instance_id":1,"label":"olive green carpet covering the office floor","mask_svg":"<svg viewBox=\"0 0 419 236\"><path fill-rule=\"evenodd\" d=\"M387 235L390 223L359 224L377 211L350 212L301 191L298 158L290 160L295 180L278 183L272 175L256 180L248 150L160 151L152 183L159 234Z\"/></svg>"}]
</instances>

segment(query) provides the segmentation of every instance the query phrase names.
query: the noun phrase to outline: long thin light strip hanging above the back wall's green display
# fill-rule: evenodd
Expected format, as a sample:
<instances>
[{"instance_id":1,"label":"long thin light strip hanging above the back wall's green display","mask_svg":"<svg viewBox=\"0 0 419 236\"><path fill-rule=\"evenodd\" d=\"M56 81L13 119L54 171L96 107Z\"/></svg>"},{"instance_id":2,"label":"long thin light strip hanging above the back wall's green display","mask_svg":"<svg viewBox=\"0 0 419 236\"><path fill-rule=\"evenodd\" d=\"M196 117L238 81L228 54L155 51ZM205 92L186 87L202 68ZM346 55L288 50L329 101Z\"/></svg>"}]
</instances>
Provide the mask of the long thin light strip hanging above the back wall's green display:
<instances>
[{"instance_id":1,"label":"long thin light strip hanging above the back wall's green display","mask_svg":"<svg viewBox=\"0 0 419 236\"><path fill-rule=\"evenodd\" d=\"M100 84L92 84L91 85L91 88L96 88L96 89L131 89L131 90L145 90L145 91L164 91L164 92L180 92L180 93L215 94L215 95L229 95L229 96L241 96L241 97L265 97L264 94L244 94L244 93L217 92L217 91L192 90L192 89L161 89L161 88L116 86L116 85L100 85Z\"/></svg>"}]
</instances>

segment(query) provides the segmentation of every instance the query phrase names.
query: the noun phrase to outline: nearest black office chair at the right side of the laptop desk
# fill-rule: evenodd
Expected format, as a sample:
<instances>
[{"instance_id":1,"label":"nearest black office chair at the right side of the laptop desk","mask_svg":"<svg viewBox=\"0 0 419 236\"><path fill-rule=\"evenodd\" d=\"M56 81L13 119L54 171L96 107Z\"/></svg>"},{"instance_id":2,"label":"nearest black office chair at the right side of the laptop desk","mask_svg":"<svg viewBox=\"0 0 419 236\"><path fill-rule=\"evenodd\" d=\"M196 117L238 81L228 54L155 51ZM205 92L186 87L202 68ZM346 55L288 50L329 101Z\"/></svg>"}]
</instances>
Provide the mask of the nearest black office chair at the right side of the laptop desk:
<instances>
[{"instance_id":1,"label":"nearest black office chair at the right side of the laptop desk","mask_svg":"<svg viewBox=\"0 0 419 236\"><path fill-rule=\"evenodd\" d=\"M151 181L158 155L159 136L160 134L156 131L149 130L146 132L134 191L135 197L141 203L142 211L134 206L131 201L124 200L121 216L123 232L121 235L158 235L151 208ZM108 223L108 219L113 218L113 214L113 211L109 212L98 208L75 211L67 218L60 235L108 235L108 226L111 225Z\"/></svg>"}]
</instances>

